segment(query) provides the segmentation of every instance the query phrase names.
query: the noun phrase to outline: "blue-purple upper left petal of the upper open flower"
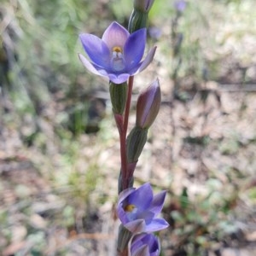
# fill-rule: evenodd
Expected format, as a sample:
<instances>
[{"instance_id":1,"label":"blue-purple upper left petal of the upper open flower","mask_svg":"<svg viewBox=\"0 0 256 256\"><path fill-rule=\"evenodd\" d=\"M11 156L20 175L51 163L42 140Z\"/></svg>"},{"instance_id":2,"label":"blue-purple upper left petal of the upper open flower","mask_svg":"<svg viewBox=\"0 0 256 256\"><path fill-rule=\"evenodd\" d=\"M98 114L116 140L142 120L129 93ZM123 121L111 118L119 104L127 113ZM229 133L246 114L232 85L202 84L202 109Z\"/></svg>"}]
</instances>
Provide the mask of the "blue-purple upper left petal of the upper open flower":
<instances>
[{"instance_id":1,"label":"blue-purple upper left petal of the upper open flower","mask_svg":"<svg viewBox=\"0 0 256 256\"><path fill-rule=\"evenodd\" d=\"M80 34L79 38L90 60L104 69L109 69L111 55L108 45L101 38L91 34Z\"/></svg>"}]
</instances>

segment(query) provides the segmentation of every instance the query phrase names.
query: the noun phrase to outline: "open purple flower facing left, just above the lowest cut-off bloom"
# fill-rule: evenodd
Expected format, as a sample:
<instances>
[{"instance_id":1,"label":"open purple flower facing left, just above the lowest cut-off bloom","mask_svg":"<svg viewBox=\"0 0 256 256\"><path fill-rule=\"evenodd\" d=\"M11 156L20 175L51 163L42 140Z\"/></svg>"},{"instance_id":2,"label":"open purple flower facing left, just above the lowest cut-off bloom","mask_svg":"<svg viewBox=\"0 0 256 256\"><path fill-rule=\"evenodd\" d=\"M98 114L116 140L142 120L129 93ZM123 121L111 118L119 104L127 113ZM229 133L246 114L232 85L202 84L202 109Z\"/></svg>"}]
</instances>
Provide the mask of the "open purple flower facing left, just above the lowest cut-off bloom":
<instances>
[{"instance_id":1,"label":"open purple flower facing left, just above the lowest cut-off bloom","mask_svg":"<svg viewBox=\"0 0 256 256\"><path fill-rule=\"evenodd\" d=\"M149 183L140 188L125 189L119 194L117 213L122 224L132 233L154 232L166 229L169 224L156 218L163 208L166 191L153 195Z\"/></svg>"}]
</instances>

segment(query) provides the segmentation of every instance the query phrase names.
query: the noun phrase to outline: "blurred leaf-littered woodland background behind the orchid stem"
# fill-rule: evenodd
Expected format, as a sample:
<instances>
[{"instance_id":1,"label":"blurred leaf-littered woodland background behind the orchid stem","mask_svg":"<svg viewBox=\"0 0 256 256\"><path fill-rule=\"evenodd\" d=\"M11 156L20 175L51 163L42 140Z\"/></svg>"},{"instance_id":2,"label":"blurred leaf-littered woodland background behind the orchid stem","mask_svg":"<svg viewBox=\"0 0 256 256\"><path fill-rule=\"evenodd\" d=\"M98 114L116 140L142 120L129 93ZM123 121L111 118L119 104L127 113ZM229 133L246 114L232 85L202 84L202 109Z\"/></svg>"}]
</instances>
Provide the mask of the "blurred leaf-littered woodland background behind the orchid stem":
<instances>
[{"instance_id":1,"label":"blurred leaf-littered woodland background behind the orchid stem","mask_svg":"<svg viewBox=\"0 0 256 256\"><path fill-rule=\"evenodd\" d=\"M162 256L256 254L254 0L155 0L162 106L135 172L166 189ZM130 0L0 3L0 254L115 255L119 135L79 33L128 25ZM132 102L131 125L134 124Z\"/></svg>"}]
</instances>

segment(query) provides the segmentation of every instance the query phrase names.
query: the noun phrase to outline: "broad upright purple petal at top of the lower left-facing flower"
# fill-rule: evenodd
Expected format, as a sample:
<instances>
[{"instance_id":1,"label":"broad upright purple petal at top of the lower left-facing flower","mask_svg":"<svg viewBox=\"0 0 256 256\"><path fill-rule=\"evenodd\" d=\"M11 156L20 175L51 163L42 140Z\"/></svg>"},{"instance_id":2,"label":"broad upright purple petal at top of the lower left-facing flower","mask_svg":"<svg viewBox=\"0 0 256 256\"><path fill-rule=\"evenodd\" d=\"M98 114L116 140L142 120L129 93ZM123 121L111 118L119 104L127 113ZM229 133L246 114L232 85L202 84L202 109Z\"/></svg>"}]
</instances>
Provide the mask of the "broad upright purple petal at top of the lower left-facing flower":
<instances>
[{"instance_id":1,"label":"broad upright purple petal at top of the lower left-facing flower","mask_svg":"<svg viewBox=\"0 0 256 256\"><path fill-rule=\"evenodd\" d=\"M153 200L153 191L149 183L144 183L129 195L129 203L135 205L138 211L148 209Z\"/></svg>"}]
</instances>

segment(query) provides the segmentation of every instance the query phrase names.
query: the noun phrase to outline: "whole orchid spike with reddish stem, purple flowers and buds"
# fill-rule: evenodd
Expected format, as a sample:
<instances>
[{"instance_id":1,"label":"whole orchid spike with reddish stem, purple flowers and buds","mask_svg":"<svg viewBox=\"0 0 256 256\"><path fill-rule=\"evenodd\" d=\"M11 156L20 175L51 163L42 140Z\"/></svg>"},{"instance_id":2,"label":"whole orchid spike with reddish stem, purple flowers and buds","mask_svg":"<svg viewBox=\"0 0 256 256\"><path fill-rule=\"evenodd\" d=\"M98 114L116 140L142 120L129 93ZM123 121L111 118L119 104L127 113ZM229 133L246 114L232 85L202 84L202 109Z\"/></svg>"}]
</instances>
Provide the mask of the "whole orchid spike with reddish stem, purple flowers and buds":
<instances>
[{"instance_id":1,"label":"whole orchid spike with reddish stem, purple flowers and buds","mask_svg":"<svg viewBox=\"0 0 256 256\"><path fill-rule=\"evenodd\" d=\"M143 59L147 41L148 12L154 0L134 0L128 30L116 21L108 26L102 38L91 34L79 36L89 59L79 58L91 73L109 79L113 116L119 130L120 172L117 214L121 221L117 242L119 256L160 254L160 242L152 234L169 224L157 218L166 191L153 195L149 183L133 188L133 173L147 141L148 128L160 109L160 84L156 79L137 100L137 120L127 136L134 75L142 72L154 58L156 47Z\"/></svg>"}]
</instances>

